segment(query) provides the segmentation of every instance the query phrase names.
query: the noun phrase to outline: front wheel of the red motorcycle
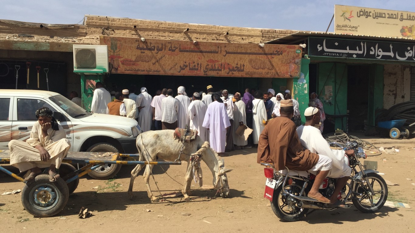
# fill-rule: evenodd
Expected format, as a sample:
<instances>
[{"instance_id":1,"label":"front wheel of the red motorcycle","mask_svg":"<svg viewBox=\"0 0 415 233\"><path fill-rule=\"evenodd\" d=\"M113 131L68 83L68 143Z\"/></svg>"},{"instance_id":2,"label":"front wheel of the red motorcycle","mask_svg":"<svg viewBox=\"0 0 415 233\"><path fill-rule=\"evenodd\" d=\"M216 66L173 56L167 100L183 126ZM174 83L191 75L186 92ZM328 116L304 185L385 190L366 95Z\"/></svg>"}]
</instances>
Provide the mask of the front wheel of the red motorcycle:
<instances>
[{"instance_id":1,"label":"front wheel of the red motorcycle","mask_svg":"<svg viewBox=\"0 0 415 233\"><path fill-rule=\"evenodd\" d=\"M367 184L360 183L356 186L354 192L363 194L363 197L355 196L352 201L359 211L362 211L363 213L376 213L382 208L388 198L388 186L386 185L385 180L376 173L367 174L367 178L372 184L375 195L371 196Z\"/></svg>"}]
</instances>

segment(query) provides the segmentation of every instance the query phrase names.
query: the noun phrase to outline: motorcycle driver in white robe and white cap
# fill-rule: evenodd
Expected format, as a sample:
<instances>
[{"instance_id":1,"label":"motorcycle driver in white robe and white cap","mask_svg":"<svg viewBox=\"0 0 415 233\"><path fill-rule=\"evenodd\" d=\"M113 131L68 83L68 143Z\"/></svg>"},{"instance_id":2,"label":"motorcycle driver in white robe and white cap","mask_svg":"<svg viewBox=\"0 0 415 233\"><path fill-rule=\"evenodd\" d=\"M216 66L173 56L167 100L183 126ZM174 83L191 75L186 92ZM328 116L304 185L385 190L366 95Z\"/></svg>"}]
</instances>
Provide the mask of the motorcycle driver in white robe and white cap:
<instances>
[{"instance_id":1,"label":"motorcycle driver in white robe and white cap","mask_svg":"<svg viewBox=\"0 0 415 233\"><path fill-rule=\"evenodd\" d=\"M334 187L334 192L330 197L330 204L345 207L343 203L337 201L337 194L342 190L344 185L346 185L350 174L352 174L352 168L345 163L345 160L348 160L347 155L353 155L354 151L332 150L330 148L327 141L321 135L320 130L315 127L316 124L320 123L320 112L316 107L308 107L305 109L304 116L305 125L297 128L301 145L312 153L326 155L332 159L333 166L327 176L337 178L337 183ZM315 174L315 172L311 173Z\"/></svg>"}]
</instances>

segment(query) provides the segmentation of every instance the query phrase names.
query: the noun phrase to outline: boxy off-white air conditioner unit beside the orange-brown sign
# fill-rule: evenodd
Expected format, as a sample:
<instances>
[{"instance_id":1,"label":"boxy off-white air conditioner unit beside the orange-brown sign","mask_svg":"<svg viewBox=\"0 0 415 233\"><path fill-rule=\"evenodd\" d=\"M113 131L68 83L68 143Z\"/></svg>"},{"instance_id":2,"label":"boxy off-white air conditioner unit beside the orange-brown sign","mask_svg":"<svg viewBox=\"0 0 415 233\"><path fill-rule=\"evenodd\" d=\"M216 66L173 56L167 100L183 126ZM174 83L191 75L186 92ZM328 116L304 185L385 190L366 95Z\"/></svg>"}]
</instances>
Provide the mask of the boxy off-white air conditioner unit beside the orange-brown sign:
<instances>
[{"instance_id":1,"label":"boxy off-white air conditioner unit beside the orange-brown sign","mask_svg":"<svg viewBox=\"0 0 415 233\"><path fill-rule=\"evenodd\" d=\"M73 72L85 74L107 73L108 49L106 45L73 45Z\"/></svg>"}]
</instances>

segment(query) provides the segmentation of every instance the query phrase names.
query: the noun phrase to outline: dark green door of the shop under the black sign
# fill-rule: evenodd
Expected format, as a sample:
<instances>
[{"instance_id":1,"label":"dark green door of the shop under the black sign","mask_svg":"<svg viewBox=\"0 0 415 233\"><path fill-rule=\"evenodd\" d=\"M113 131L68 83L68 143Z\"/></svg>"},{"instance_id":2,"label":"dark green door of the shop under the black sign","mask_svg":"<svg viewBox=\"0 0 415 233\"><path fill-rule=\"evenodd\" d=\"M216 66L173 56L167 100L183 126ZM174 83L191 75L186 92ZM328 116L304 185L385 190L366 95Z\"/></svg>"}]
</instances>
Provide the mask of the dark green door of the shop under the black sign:
<instances>
[{"instance_id":1,"label":"dark green door of the shop under the black sign","mask_svg":"<svg viewBox=\"0 0 415 233\"><path fill-rule=\"evenodd\" d=\"M347 131L347 65L319 63L317 90L325 113L333 116L335 129Z\"/></svg>"}]
</instances>

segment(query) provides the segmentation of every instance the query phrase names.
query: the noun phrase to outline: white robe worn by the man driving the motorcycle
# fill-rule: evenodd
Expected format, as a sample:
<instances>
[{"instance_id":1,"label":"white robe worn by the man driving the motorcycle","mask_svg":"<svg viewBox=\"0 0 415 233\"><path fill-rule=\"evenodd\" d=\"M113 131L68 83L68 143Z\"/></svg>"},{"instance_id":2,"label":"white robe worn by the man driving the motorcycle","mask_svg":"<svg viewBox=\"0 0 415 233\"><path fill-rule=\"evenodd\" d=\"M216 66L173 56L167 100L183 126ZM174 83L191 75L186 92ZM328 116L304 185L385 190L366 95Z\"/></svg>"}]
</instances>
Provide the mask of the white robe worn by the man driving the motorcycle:
<instances>
[{"instance_id":1,"label":"white robe worn by the man driving the motorcycle","mask_svg":"<svg viewBox=\"0 0 415 233\"><path fill-rule=\"evenodd\" d=\"M310 150L312 153L326 155L332 159L333 166L329 172L329 177L340 178L350 176L352 169L344 163L345 159L348 160L344 150L332 150L319 129L314 126L299 126L297 134L301 145L305 149Z\"/></svg>"}]
</instances>

